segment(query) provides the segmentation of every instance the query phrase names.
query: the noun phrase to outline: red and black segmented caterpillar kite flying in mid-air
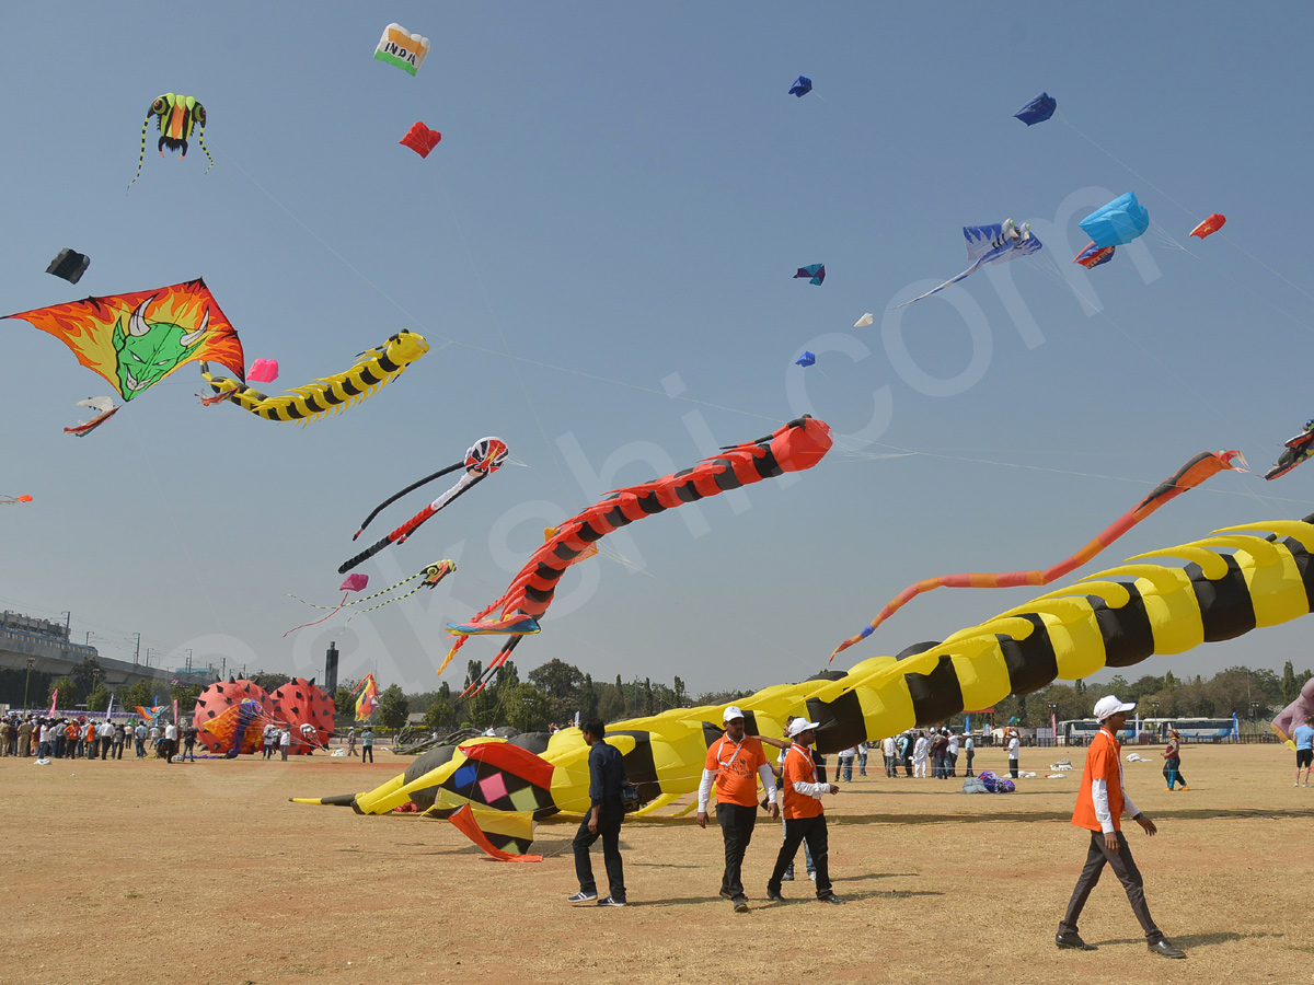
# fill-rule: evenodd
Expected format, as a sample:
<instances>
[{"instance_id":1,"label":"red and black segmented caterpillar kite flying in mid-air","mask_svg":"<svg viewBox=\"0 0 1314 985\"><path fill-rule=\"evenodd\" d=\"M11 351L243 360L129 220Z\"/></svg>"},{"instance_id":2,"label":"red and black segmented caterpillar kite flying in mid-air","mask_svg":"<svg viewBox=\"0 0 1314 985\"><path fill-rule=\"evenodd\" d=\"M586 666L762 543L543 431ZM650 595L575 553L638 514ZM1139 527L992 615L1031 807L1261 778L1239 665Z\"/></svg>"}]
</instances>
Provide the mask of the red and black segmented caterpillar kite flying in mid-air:
<instances>
[{"instance_id":1,"label":"red and black segmented caterpillar kite flying in mid-air","mask_svg":"<svg viewBox=\"0 0 1314 985\"><path fill-rule=\"evenodd\" d=\"M539 617L552 605L557 582L566 569L598 540L645 516L715 496L725 490L761 482L787 471L811 469L830 450L830 426L804 415L766 437L724 449L691 469L664 475L652 482L618 489L581 514L561 523L541 548L526 562L507 590L464 624L448 624L447 632L460 638L453 644L442 674L470 636L506 634L512 638L489 665L495 668L519 637L539 632ZM489 619L491 613L499 613Z\"/></svg>"}]
</instances>

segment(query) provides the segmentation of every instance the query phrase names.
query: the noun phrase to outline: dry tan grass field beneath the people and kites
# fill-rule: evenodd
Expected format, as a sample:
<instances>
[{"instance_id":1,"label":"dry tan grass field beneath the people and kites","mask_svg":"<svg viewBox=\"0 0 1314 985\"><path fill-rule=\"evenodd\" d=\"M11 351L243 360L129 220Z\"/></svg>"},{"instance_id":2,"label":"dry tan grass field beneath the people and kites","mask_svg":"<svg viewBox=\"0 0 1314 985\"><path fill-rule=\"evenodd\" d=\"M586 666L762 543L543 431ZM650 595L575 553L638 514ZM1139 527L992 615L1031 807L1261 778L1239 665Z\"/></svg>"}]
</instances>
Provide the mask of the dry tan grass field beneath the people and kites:
<instances>
[{"instance_id":1,"label":"dry tan grass field beneath the people and kites","mask_svg":"<svg viewBox=\"0 0 1314 985\"><path fill-rule=\"evenodd\" d=\"M1146 951L1108 872L1081 922L1099 952L1055 950L1087 846L1068 825L1077 777L1045 779L1054 750L1022 753L1039 775L1000 796L887 780L876 756L827 801L846 906L807 881L765 904L779 829L762 814L738 915L716 893L720 833L691 817L627 823L631 905L572 909L573 821L540 826L541 864L502 864L447 822L288 802L382 783L409 762L386 751L374 766L0 759L0 981L1314 981L1314 788L1292 787L1290 753L1188 746L1176 793L1156 764L1125 767L1159 823L1154 839L1129 826L1148 901L1185 961Z\"/></svg>"}]
</instances>

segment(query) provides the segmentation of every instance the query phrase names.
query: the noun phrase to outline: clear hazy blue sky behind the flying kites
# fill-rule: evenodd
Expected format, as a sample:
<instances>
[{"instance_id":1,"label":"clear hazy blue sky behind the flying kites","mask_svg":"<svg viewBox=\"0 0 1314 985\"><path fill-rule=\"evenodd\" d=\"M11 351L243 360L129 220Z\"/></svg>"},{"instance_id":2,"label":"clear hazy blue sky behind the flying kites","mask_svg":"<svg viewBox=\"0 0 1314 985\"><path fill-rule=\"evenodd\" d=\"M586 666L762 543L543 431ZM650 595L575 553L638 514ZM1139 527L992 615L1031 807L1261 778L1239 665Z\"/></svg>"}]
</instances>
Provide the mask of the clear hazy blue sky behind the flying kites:
<instances>
[{"instance_id":1,"label":"clear hazy blue sky behind the flying kites","mask_svg":"<svg viewBox=\"0 0 1314 985\"><path fill-rule=\"evenodd\" d=\"M307 428L201 407L187 366L75 440L74 402L104 381L4 322L0 492L35 498L0 517L4 607L71 611L106 655L141 632L167 666L191 647L311 675L336 640L346 676L428 690L443 624L499 595L543 527L802 410L846 436L836 452L608 538L516 651L522 672L556 657L695 692L795 680L907 583L1047 566L1206 449L1257 474L1212 479L1085 571L1314 512L1314 471L1261 477L1314 415L1306 5L378 9L0 12L4 311L204 276L247 360L280 361L269 390L399 328L434 347ZM389 20L432 42L415 77L371 58ZM1012 114L1042 89L1063 118L1024 127ZM125 196L168 91L205 104L215 165L194 141L162 160L150 138ZM443 133L427 160L397 144L417 120ZM1150 234L1070 281L1076 223L1126 190ZM1213 211L1226 235L1188 239ZM963 225L1004 218L1046 250L887 315L966 265ZM76 286L43 272L63 247L92 257ZM809 263L821 288L791 278ZM875 324L853 328L865 311ZM485 435L514 464L361 569L372 590L442 557L457 574L284 638L311 613L285 592L336 602L365 514ZM941 590L845 657L1031 594ZM1143 668L1301 668L1306 634Z\"/></svg>"}]
</instances>

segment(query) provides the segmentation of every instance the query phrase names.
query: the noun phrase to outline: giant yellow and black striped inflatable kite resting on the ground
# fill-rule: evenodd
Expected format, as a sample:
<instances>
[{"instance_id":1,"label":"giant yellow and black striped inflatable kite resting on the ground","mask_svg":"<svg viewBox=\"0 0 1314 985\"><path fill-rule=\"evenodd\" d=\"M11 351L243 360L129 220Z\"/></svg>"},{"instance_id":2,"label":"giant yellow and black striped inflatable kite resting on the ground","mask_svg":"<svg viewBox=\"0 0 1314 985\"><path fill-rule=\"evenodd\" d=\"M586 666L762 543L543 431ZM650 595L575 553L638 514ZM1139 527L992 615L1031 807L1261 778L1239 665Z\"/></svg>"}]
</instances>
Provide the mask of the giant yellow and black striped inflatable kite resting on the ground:
<instances>
[{"instance_id":1,"label":"giant yellow and black striped inflatable kite resting on the ground","mask_svg":"<svg viewBox=\"0 0 1314 985\"><path fill-rule=\"evenodd\" d=\"M1156 653L1185 653L1305 616L1314 608L1311 552L1314 516L1227 527L1092 574L943 642L872 657L848 674L825 671L769 687L736 704L750 734L781 737L786 716L805 714L820 722L817 749L836 753L988 708L1055 679L1130 667ZM1184 563L1148 563L1151 557ZM707 749L721 734L723 711L677 708L608 726L607 742L624 755L627 776L645 802L640 813L698 789ZM301 802L365 814L409 800L440 816L465 804L536 818L587 810L589 749L578 729L557 732L541 754L512 742L473 739L435 750L373 791ZM523 842L516 847L523 851Z\"/></svg>"}]
</instances>

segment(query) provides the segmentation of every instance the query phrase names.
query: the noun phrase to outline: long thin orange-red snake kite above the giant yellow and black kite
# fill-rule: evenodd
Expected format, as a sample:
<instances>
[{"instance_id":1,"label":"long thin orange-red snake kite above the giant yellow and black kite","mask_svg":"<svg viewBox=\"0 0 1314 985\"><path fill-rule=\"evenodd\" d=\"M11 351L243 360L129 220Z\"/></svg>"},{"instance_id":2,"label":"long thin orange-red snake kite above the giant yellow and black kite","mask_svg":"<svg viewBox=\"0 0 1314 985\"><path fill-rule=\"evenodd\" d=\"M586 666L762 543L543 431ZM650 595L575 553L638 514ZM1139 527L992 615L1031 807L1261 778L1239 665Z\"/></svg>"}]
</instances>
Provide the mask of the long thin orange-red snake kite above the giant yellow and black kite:
<instances>
[{"instance_id":1,"label":"long thin orange-red snake kite above the giant yellow and black kite","mask_svg":"<svg viewBox=\"0 0 1314 985\"><path fill-rule=\"evenodd\" d=\"M1236 460L1240 466L1233 465L1233 460ZM1050 582L1058 580L1068 571L1074 571L1093 558L1169 499L1176 499L1188 489L1194 489L1210 475L1217 475L1219 471L1227 471L1229 469L1244 471L1244 465L1246 460L1242 457L1240 452L1235 449L1227 452L1201 452L1167 479L1155 486L1150 495L1137 503L1131 510L1127 510L1127 512L1100 531L1095 540L1075 554L1059 561L1051 567L1046 567L1043 570L1031 569L1029 571L1008 571L1005 574L980 574L976 571L968 571L966 574L940 575L938 578L925 578L920 582L915 582L891 599L890 603L880 609L880 613L871 620L871 625L865 628L857 636L850 636L834 647L834 651L830 654L830 659L833 661L837 653L848 650L859 640L866 640L882 623L901 609L905 603L911 602L922 592L932 591L933 588L940 588L942 586L947 586L950 588L1013 588L1018 584L1049 584Z\"/></svg>"}]
</instances>

